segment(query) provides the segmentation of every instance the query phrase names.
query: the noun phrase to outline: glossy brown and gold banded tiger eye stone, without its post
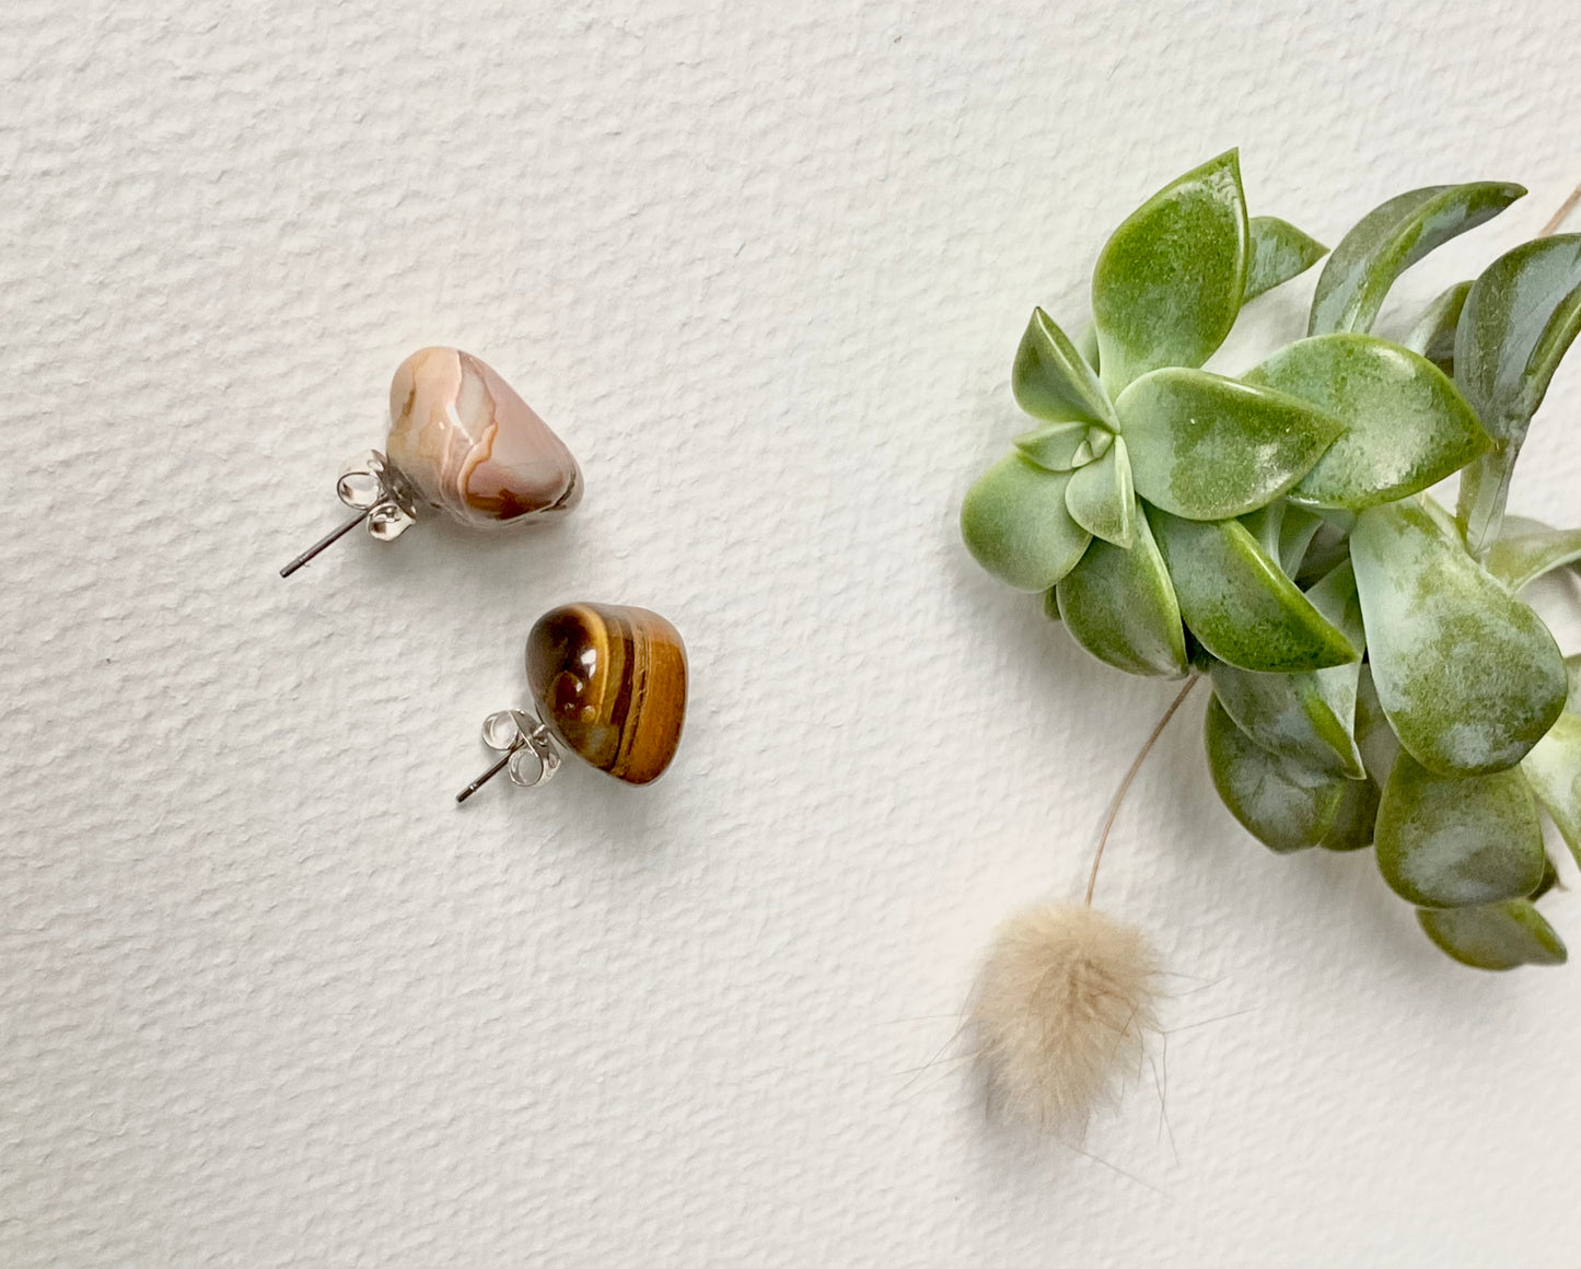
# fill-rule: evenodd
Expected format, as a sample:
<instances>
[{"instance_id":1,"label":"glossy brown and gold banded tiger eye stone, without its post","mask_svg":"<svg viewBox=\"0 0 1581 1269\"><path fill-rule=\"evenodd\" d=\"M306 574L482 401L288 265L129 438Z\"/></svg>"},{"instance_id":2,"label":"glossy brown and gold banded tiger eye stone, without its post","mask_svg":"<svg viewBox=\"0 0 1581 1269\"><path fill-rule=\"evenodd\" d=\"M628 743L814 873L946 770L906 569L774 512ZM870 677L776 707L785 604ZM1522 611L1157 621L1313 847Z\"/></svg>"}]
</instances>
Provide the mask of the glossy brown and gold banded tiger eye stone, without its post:
<instances>
[{"instance_id":1,"label":"glossy brown and gold banded tiger eye stone, without its post","mask_svg":"<svg viewBox=\"0 0 1581 1269\"><path fill-rule=\"evenodd\" d=\"M526 684L568 749L626 784L675 757L686 719L686 645L658 613L566 604L526 637Z\"/></svg>"}]
</instances>

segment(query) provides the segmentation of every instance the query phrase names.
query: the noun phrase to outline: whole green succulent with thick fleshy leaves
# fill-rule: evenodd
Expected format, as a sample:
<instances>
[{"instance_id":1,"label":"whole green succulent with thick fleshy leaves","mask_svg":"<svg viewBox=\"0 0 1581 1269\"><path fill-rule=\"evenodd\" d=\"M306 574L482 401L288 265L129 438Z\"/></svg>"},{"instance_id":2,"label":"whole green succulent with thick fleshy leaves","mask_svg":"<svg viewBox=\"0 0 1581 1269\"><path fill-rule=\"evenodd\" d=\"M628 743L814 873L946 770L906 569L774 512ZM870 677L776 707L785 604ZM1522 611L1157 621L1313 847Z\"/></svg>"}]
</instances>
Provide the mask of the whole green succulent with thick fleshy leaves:
<instances>
[{"instance_id":1,"label":"whole green succulent with thick fleshy leaves","mask_svg":"<svg viewBox=\"0 0 1581 1269\"><path fill-rule=\"evenodd\" d=\"M1581 860L1581 656L1519 597L1581 561L1581 529L1505 517L1581 329L1581 234L1499 256L1404 343L1371 329L1406 269L1524 193L1369 212L1306 338L1228 378L1202 365L1243 305L1325 248L1247 217L1235 152L1187 172L1104 247L1086 330L1032 313L1010 382L1036 427L961 507L975 559L1088 653L1211 681L1208 766L1254 838L1374 845L1428 937L1481 969L1565 959L1535 907L1541 812ZM1428 490L1455 473L1451 514Z\"/></svg>"}]
</instances>

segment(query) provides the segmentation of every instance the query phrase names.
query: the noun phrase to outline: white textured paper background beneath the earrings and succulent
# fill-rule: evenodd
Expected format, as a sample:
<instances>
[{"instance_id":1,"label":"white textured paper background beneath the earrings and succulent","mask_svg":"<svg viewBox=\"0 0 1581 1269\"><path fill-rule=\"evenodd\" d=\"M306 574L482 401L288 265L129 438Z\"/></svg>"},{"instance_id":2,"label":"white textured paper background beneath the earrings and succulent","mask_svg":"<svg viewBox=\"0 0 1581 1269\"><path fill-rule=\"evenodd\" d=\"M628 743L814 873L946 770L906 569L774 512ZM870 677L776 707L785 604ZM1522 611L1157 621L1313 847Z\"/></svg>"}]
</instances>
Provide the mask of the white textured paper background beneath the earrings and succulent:
<instances>
[{"instance_id":1,"label":"white textured paper background beneath the earrings and succulent","mask_svg":"<svg viewBox=\"0 0 1581 1269\"><path fill-rule=\"evenodd\" d=\"M1232 144L1328 242L1527 183L1423 300L1581 179L1578 52L1553 0L9 0L0 1261L1572 1264L1581 966L1271 857L1200 700L1100 891L1192 975L1167 1130L1149 1071L1088 1155L1007 1141L944 1046L1173 691L958 545L1028 311ZM281 582L425 343L582 509ZM1581 518L1578 401L1519 509ZM685 632L677 765L457 809L572 597Z\"/></svg>"}]
</instances>

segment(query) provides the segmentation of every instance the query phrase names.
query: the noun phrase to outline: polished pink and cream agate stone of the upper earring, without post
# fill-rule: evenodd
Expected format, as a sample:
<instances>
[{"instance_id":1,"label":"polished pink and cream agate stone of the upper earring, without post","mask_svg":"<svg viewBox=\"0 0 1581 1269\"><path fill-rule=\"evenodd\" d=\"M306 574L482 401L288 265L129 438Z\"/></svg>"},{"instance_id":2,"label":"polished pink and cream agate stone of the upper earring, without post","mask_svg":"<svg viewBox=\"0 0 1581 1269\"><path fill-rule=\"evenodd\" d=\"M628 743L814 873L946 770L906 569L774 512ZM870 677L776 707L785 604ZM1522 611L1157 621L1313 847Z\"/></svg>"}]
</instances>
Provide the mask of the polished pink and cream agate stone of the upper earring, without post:
<instances>
[{"instance_id":1,"label":"polished pink and cream agate stone of the upper earring, without post","mask_svg":"<svg viewBox=\"0 0 1581 1269\"><path fill-rule=\"evenodd\" d=\"M387 450L424 501L473 528L542 520L582 498L564 442L457 348L424 348L395 370Z\"/></svg>"}]
</instances>

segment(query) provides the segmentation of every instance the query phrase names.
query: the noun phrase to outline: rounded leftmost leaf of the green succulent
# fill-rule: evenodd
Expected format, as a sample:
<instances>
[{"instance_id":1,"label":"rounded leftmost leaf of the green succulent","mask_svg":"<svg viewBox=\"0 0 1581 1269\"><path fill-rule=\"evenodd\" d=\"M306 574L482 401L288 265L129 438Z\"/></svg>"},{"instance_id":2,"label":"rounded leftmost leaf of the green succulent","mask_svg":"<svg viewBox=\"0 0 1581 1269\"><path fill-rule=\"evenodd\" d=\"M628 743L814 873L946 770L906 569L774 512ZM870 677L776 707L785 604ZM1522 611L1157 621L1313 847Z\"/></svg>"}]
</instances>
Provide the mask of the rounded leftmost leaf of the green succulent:
<instances>
[{"instance_id":1,"label":"rounded leftmost leaf of the green succulent","mask_svg":"<svg viewBox=\"0 0 1581 1269\"><path fill-rule=\"evenodd\" d=\"M1075 567L1092 536L1066 510L1070 476L1020 454L988 468L961 504L972 558L1018 591L1047 591Z\"/></svg>"}]
</instances>

